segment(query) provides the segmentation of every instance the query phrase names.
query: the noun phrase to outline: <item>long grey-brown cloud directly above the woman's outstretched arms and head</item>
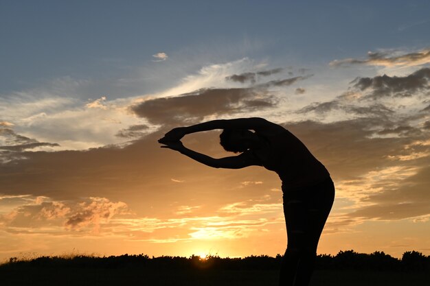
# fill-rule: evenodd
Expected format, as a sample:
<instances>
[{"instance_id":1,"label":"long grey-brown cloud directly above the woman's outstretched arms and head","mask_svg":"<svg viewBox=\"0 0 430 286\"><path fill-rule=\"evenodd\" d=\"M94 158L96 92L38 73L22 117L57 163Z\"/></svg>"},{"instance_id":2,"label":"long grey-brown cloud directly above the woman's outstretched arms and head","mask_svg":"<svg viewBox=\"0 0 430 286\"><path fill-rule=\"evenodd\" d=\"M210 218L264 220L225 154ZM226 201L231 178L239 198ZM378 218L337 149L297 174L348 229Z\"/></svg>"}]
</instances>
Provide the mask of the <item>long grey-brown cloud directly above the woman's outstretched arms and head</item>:
<instances>
[{"instance_id":1,"label":"long grey-brown cloud directly above the woman's outstretched arms and head","mask_svg":"<svg viewBox=\"0 0 430 286\"><path fill-rule=\"evenodd\" d=\"M273 97L262 89L212 88L178 97L149 99L131 110L155 124L190 124L209 115L220 117L274 104Z\"/></svg>"}]
</instances>

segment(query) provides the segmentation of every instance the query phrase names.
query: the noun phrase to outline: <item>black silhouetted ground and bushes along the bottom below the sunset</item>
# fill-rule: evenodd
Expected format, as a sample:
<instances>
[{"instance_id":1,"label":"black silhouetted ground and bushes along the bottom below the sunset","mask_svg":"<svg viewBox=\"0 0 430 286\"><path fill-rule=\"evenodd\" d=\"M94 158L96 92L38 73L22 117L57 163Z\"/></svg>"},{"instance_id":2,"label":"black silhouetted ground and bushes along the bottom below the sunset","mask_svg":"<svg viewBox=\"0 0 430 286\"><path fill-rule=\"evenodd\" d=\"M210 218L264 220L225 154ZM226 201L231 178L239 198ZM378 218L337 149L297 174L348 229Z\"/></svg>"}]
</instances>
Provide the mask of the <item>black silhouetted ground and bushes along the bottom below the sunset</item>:
<instances>
[{"instance_id":1,"label":"black silhouetted ground and bushes along the bottom below the sunset","mask_svg":"<svg viewBox=\"0 0 430 286\"><path fill-rule=\"evenodd\" d=\"M281 256L243 259L208 257L12 257L0 265L0 286L106 285L260 285L278 286ZM430 257L405 252L402 259L383 252L341 251L319 255L310 286L429 286Z\"/></svg>"}]
</instances>

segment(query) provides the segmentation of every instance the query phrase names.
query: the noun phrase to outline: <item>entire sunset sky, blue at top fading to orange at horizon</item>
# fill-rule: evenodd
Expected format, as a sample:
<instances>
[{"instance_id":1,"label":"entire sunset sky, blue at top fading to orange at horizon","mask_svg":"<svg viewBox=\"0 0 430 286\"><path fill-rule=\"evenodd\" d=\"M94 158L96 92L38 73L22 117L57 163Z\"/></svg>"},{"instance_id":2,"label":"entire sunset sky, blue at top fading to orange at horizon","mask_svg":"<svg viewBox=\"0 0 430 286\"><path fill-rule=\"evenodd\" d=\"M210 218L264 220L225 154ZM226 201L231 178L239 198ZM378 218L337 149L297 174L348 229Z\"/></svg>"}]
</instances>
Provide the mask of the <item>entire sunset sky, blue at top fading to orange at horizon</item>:
<instances>
[{"instance_id":1,"label":"entire sunset sky, blue at top fading to orange at horizon","mask_svg":"<svg viewBox=\"0 0 430 286\"><path fill-rule=\"evenodd\" d=\"M430 255L427 1L0 1L0 261L284 253L280 179L157 143L290 130L335 182L319 254ZM231 156L220 130L183 143Z\"/></svg>"}]
</instances>

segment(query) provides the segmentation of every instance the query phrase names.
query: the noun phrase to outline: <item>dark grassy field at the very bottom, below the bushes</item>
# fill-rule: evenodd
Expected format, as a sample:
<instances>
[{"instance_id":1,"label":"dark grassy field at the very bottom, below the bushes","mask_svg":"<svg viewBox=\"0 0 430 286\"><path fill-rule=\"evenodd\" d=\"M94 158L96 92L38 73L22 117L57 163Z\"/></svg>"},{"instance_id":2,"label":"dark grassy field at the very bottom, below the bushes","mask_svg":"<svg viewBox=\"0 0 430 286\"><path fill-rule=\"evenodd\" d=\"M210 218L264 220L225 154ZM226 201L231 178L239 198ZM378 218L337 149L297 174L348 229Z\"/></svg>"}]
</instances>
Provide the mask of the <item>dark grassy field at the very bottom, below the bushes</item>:
<instances>
[{"instance_id":1,"label":"dark grassy field at the very bottom, below the bushes","mask_svg":"<svg viewBox=\"0 0 430 286\"><path fill-rule=\"evenodd\" d=\"M0 270L3 286L36 285L278 285L277 270L138 270L136 268L49 268ZM429 286L427 272L317 270L311 286Z\"/></svg>"}]
</instances>

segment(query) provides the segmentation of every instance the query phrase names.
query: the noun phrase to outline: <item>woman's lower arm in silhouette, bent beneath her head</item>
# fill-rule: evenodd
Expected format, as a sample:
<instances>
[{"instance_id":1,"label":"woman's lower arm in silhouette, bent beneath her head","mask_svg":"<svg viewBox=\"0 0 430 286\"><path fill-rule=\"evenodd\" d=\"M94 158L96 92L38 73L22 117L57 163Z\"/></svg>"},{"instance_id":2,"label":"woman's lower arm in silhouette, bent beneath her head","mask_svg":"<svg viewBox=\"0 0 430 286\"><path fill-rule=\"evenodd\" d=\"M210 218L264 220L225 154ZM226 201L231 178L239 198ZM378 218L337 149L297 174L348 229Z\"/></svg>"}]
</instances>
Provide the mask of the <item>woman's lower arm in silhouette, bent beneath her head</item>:
<instances>
[{"instance_id":1,"label":"woman's lower arm in silhouette, bent beneath her head","mask_svg":"<svg viewBox=\"0 0 430 286\"><path fill-rule=\"evenodd\" d=\"M199 163L207 165L213 168L225 168L225 169L241 169L252 165L261 165L260 161L256 156L253 156L251 152L244 152L238 156L224 157L224 158L212 158L205 154L195 152L185 147L181 141L168 142L161 148L169 148L184 154L196 160Z\"/></svg>"}]
</instances>

